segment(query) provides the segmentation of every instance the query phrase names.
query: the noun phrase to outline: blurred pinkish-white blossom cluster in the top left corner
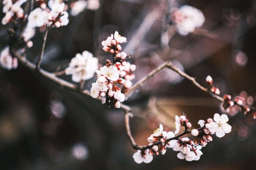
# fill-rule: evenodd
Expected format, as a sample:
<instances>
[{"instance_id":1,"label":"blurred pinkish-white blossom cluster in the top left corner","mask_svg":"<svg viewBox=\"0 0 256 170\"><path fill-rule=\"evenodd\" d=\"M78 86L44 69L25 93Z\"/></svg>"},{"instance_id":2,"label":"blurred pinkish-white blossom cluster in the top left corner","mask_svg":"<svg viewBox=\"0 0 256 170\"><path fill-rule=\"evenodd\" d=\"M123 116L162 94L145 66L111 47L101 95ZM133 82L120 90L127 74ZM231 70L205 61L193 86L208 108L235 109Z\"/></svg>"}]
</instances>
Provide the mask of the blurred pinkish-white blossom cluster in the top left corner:
<instances>
[{"instance_id":1,"label":"blurred pinkish-white blossom cluster in the top left corner","mask_svg":"<svg viewBox=\"0 0 256 170\"><path fill-rule=\"evenodd\" d=\"M26 1L27 0L4 0L3 13L5 13L5 16L2 19L2 24L6 25L11 22L12 19L23 19L24 11L20 6Z\"/></svg>"}]
</instances>

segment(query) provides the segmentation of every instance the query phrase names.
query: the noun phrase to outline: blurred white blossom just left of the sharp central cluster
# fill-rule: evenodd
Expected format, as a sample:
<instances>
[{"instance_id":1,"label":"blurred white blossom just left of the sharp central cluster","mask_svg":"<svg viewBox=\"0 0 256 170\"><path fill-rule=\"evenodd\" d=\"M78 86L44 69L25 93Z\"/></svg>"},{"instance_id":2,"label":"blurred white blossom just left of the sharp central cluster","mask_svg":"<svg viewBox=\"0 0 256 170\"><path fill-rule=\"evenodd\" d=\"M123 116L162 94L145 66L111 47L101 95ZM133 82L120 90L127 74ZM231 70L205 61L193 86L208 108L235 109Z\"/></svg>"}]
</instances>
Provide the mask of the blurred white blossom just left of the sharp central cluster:
<instances>
[{"instance_id":1,"label":"blurred white blossom just left of the sharp central cluster","mask_svg":"<svg viewBox=\"0 0 256 170\"><path fill-rule=\"evenodd\" d=\"M71 59L65 73L72 74L72 81L79 82L92 78L97 69L98 58L93 57L89 51L84 51L82 55L78 53Z\"/></svg>"}]
</instances>

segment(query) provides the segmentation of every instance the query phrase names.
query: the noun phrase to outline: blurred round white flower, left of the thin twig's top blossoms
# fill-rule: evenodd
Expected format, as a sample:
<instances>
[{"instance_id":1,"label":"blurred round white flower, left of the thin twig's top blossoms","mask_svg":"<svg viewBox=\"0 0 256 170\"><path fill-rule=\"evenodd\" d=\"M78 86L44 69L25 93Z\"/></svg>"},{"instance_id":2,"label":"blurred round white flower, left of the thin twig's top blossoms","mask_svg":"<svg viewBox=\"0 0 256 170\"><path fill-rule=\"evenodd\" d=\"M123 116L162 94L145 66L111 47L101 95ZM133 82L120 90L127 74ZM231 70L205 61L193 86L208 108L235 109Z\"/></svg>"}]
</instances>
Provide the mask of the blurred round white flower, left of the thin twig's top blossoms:
<instances>
[{"instance_id":1,"label":"blurred round white flower, left of the thin twig's top blossoms","mask_svg":"<svg viewBox=\"0 0 256 170\"><path fill-rule=\"evenodd\" d=\"M47 22L47 12L36 8L28 16L28 27L35 28L43 26Z\"/></svg>"}]
</instances>

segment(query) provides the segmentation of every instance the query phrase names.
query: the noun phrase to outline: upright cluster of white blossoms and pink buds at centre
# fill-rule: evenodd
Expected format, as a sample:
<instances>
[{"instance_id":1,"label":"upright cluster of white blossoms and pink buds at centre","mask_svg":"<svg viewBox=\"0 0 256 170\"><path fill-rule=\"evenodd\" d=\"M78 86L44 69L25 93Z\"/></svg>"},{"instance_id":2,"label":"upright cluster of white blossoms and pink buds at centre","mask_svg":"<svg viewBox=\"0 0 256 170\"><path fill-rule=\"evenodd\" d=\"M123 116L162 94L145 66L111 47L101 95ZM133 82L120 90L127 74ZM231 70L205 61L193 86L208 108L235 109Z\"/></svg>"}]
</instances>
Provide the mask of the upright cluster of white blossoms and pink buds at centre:
<instances>
[{"instance_id":1,"label":"upright cluster of white blossoms and pink buds at centre","mask_svg":"<svg viewBox=\"0 0 256 170\"><path fill-rule=\"evenodd\" d=\"M113 55L113 62L106 60L106 65L97 70L96 83L92 83L91 96L93 98L106 97L106 105L119 108L120 102L124 101L125 96L122 91L131 88L131 80L134 78L132 71L136 66L124 61L127 54L120 52L122 47L120 44L126 42L126 38L122 37L116 31L111 34L107 40L102 41L103 50ZM125 83L125 82L128 83ZM122 84L123 89L117 86Z\"/></svg>"}]
</instances>

